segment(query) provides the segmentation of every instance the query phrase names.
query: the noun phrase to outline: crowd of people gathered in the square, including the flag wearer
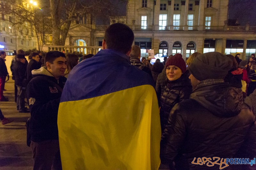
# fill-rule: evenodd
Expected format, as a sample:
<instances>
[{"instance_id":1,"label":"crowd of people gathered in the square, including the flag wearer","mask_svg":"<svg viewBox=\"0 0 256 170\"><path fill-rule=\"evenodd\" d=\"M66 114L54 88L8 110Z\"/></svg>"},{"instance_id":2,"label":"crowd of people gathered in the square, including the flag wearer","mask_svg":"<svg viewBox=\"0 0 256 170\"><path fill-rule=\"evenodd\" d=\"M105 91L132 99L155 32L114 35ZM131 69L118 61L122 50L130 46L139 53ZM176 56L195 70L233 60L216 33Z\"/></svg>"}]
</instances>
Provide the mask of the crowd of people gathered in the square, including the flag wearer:
<instances>
[{"instance_id":1,"label":"crowd of people gathered in the square, including the flag wearer","mask_svg":"<svg viewBox=\"0 0 256 170\"><path fill-rule=\"evenodd\" d=\"M254 54L247 62L240 54L196 52L185 62L165 52L152 65L133 40L116 23L96 55L50 51L41 62L37 52L26 62L18 50L11 69L17 110L28 112L26 98L31 113L34 170L158 169L160 162L209 169L193 161L256 157ZM7 101L2 72L0 101Z\"/></svg>"}]
</instances>

